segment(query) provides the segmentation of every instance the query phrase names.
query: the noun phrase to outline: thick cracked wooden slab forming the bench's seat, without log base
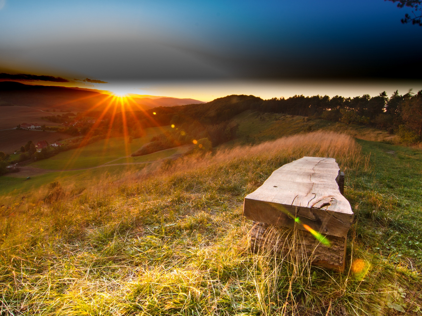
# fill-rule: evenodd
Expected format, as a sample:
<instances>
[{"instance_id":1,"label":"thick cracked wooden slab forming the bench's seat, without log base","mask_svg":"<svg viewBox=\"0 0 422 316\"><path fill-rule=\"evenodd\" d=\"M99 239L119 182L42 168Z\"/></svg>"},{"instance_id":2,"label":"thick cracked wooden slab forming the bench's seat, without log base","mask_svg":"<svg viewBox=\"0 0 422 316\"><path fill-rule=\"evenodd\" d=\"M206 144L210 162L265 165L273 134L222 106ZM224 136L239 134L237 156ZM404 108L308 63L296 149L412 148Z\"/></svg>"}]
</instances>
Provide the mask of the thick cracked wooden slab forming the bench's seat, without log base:
<instances>
[{"instance_id":1,"label":"thick cracked wooden slab forming the bench's seat, without log base","mask_svg":"<svg viewBox=\"0 0 422 316\"><path fill-rule=\"evenodd\" d=\"M303 157L275 170L246 195L243 214L249 220L287 228L295 217L319 233L346 237L352 225L349 201L340 193L334 158ZM305 230L303 225L298 229Z\"/></svg>"}]
</instances>

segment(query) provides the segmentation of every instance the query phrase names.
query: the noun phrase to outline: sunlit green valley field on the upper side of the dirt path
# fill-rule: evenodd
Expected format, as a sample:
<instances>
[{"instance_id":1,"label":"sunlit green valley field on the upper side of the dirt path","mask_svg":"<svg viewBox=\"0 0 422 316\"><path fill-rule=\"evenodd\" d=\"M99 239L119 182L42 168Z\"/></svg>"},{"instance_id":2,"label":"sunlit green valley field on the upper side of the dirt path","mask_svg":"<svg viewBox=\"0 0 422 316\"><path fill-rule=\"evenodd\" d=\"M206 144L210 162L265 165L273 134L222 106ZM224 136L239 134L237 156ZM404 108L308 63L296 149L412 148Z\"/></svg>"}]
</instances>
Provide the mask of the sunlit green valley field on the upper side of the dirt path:
<instances>
[{"instance_id":1,"label":"sunlit green valley field on the upper side of the dirt path","mask_svg":"<svg viewBox=\"0 0 422 316\"><path fill-rule=\"evenodd\" d=\"M72 149L51 158L36 161L29 166L42 169L69 170L100 166L116 158L130 156L143 144L150 141L154 135L168 130L169 127L151 127L146 129L146 136L124 142L123 137L103 139L87 146Z\"/></svg>"}]
</instances>

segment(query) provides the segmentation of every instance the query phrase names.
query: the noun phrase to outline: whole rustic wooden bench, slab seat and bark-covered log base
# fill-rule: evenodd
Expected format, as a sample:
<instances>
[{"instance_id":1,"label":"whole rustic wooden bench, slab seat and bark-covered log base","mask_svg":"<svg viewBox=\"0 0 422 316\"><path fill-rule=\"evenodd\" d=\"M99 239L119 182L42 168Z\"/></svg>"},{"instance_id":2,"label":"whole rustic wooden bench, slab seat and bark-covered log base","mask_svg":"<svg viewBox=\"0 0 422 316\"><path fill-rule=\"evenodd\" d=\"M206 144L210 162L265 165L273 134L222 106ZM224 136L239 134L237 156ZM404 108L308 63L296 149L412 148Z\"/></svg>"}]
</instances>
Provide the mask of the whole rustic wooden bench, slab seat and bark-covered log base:
<instances>
[{"instance_id":1,"label":"whole rustic wooden bench, slab seat and bark-covered log base","mask_svg":"<svg viewBox=\"0 0 422 316\"><path fill-rule=\"evenodd\" d=\"M313 265L343 271L353 222L343 186L344 173L334 158L303 157L275 170L243 202L243 214L253 221L251 249L267 244L287 251L296 232L298 254Z\"/></svg>"}]
</instances>

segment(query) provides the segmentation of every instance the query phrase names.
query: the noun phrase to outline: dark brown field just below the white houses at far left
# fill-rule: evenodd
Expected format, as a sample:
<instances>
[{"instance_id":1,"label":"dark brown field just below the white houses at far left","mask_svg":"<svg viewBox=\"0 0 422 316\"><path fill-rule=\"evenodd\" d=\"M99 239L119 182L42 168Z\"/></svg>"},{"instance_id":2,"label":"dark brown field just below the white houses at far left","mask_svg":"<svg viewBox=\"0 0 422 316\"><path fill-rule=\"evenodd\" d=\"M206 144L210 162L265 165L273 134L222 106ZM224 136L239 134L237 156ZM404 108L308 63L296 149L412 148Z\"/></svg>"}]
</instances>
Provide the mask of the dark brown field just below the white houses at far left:
<instances>
[{"instance_id":1,"label":"dark brown field just below the white houses at far left","mask_svg":"<svg viewBox=\"0 0 422 316\"><path fill-rule=\"evenodd\" d=\"M24 129L3 130L0 131L0 151L11 154L30 140L34 143L40 140L46 140L51 144L57 139L66 139L69 137L68 134L49 131L29 131Z\"/></svg>"}]
</instances>

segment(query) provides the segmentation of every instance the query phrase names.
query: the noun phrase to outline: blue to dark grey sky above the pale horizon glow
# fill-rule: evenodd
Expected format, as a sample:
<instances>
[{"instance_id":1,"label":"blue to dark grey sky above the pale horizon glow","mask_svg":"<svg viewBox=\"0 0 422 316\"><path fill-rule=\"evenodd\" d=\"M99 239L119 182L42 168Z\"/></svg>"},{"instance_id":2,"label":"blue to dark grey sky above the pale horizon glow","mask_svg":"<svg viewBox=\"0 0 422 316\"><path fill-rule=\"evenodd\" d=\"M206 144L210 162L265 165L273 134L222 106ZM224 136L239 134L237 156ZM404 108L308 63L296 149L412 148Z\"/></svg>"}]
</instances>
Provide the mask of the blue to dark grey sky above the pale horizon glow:
<instances>
[{"instance_id":1,"label":"blue to dark grey sky above the pale horizon glow","mask_svg":"<svg viewBox=\"0 0 422 316\"><path fill-rule=\"evenodd\" d=\"M0 0L0 70L108 82L420 78L383 0Z\"/></svg>"}]
</instances>

